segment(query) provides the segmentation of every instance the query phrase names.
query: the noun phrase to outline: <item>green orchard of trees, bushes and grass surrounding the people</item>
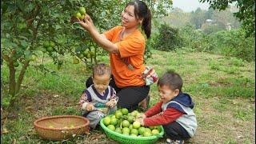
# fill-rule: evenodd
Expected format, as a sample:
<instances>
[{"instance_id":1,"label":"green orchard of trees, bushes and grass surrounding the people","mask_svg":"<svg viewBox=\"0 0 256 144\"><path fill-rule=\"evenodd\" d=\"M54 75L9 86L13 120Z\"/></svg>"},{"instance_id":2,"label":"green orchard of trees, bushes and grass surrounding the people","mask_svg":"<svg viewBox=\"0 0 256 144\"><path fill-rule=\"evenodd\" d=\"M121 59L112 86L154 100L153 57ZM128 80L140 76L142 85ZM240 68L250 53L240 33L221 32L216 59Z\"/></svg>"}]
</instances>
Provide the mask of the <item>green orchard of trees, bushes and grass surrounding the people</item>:
<instances>
[{"instance_id":1,"label":"green orchard of trees, bushes and grass surrounding the people","mask_svg":"<svg viewBox=\"0 0 256 144\"><path fill-rule=\"evenodd\" d=\"M46 115L80 115L78 99L97 62L109 63L70 17L84 6L100 32L120 23L128 1L1 1L1 142L58 143L38 137L33 122ZM191 143L255 142L255 2L210 2L209 10L171 9L147 0L153 14L146 65L173 69L192 95L198 130ZM221 10L221 11L219 11ZM206 19L214 20L213 23ZM230 23L231 30L226 29ZM158 101L150 87L150 106ZM159 139L159 143L165 139ZM113 142L101 129L66 143ZM59 142L61 143L61 142Z\"/></svg>"}]
</instances>

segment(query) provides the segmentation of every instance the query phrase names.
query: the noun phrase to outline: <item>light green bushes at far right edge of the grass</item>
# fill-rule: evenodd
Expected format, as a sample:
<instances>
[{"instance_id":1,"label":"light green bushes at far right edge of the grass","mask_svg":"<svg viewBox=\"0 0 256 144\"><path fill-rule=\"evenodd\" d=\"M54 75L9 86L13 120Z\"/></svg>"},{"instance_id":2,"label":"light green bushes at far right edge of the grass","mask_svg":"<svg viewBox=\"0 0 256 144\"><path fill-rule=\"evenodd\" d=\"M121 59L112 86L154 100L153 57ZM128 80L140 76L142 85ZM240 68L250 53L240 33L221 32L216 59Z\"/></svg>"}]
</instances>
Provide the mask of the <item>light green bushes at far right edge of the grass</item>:
<instances>
[{"instance_id":1,"label":"light green bushes at far right edge of the grass","mask_svg":"<svg viewBox=\"0 0 256 144\"><path fill-rule=\"evenodd\" d=\"M204 34L200 30L195 30L193 26L187 25L182 27L179 34L184 46L192 50L241 58L248 62L254 61L254 38L245 38L246 31L243 29Z\"/></svg>"}]
</instances>

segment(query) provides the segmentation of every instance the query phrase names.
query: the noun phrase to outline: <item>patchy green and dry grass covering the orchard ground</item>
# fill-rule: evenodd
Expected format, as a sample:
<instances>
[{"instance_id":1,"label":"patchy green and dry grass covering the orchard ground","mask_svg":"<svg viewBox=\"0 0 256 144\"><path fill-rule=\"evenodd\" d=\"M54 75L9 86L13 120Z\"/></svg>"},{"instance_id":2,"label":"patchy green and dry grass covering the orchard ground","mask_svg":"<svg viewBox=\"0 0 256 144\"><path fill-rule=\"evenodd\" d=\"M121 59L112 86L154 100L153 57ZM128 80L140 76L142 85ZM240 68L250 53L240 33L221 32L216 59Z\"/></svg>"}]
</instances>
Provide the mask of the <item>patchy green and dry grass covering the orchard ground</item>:
<instances>
[{"instance_id":1,"label":"patchy green and dry grass covering the orchard ground","mask_svg":"<svg viewBox=\"0 0 256 144\"><path fill-rule=\"evenodd\" d=\"M198 130L189 143L255 142L254 62L185 50L152 52L153 58L148 59L146 65L154 66L160 76L167 69L181 74L184 82L182 90L194 100ZM32 67L39 63L32 63L26 71L15 107L8 115L5 107L2 107L1 127L7 130L1 135L2 143L113 143L100 129L65 142L43 140L35 133L33 122L37 118L81 114L78 100L85 88L85 80L91 73L82 63L73 65L71 59L66 56L61 70L57 70L57 66L47 60L46 68L53 72L46 74ZM109 59L104 57L100 61L109 62ZM8 97L7 74L5 64L1 68L1 98ZM150 106L153 106L159 99L156 84L150 86L150 96ZM164 141L160 138L158 143Z\"/></svg>"}]
</instances>

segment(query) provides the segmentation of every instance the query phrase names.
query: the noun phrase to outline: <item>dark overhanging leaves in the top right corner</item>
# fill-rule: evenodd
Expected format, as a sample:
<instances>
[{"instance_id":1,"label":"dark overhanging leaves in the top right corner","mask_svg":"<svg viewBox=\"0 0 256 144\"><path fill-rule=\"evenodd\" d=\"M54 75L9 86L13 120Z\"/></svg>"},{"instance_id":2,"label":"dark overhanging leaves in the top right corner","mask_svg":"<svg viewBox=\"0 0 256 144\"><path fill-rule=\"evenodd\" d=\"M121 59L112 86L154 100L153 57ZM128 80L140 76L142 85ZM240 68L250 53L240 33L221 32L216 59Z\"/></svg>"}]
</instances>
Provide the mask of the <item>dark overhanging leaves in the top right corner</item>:
<instances>
[{"instance_id":1,"label":"dark overhanging leaves in the top right corner","mask_svg":"<svg viewBox=\"0 0 256 144\"><path fill-rule=\"evenodd\" d=\"M236 2L238 12L234 13L234 17L242 22L246 37L255 36L255 1L254 0L200 0L199 2L209 2L210 7L214 10L226 10L230 3Z\"/></svg>"}]
</instances>

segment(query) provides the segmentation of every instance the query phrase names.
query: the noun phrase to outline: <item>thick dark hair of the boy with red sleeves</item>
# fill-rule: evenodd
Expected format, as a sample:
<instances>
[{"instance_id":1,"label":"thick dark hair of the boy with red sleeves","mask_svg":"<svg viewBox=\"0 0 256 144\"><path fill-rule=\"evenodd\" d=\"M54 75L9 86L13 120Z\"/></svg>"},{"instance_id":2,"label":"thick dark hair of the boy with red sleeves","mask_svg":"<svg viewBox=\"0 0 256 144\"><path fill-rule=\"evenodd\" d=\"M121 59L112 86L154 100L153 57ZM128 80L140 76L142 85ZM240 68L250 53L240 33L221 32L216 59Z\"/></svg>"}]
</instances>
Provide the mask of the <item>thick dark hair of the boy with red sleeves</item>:
<instances>
[{"instance_id":1,"label":"thick dark hair of the boy with red sleeves","mask_svg":"<svg viewBox=\"0 0 256 144\"><path fill-rule=\"evenodd\" d=\"M158 86L168 86L170 90L182 91L183 81L179 74L175 73L174 70L167 70L158 80Z\"/></svg>"}]
</instances>

